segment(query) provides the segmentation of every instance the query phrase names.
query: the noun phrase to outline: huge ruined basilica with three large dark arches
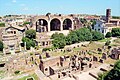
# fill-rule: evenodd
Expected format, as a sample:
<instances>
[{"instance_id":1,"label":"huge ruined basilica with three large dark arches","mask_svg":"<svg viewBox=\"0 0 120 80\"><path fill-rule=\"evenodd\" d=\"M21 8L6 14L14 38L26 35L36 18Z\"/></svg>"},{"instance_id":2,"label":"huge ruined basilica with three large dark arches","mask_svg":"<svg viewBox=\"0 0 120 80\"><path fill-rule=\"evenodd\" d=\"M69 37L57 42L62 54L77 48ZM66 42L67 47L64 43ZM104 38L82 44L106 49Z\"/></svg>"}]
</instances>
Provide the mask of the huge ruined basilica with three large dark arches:
<instances>
[{"instance_id":1,"label":"huge ruined basilica with three large dark arches","mask_svg":"<svg viewBox=\"0 0 120 80\"><path fill-rule=\"evenodd\" d=\"M32 19L32 29L36 32L74 30L80 28L80 22L73 15L41 15Z\"/></svg>"}]
</instances>

